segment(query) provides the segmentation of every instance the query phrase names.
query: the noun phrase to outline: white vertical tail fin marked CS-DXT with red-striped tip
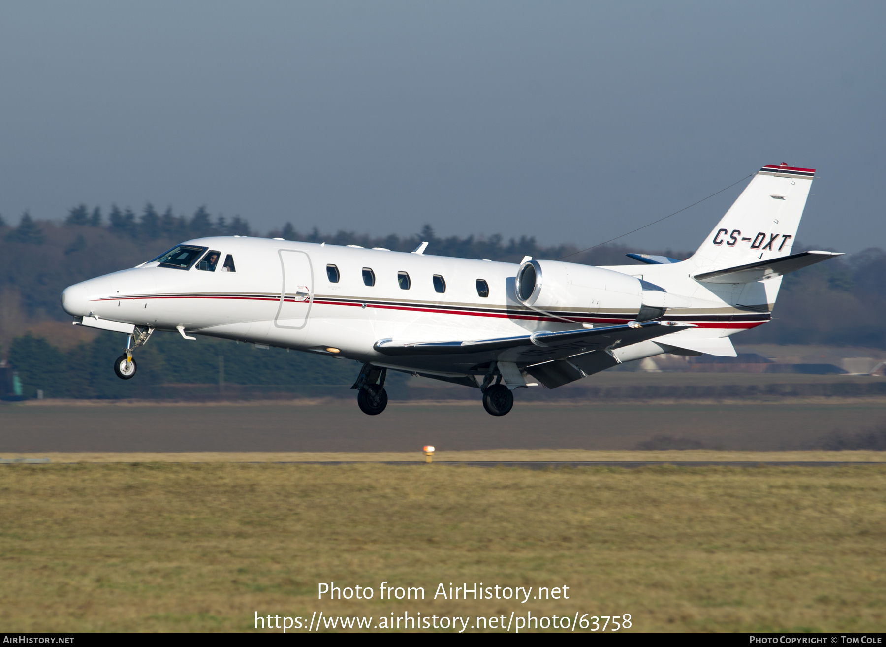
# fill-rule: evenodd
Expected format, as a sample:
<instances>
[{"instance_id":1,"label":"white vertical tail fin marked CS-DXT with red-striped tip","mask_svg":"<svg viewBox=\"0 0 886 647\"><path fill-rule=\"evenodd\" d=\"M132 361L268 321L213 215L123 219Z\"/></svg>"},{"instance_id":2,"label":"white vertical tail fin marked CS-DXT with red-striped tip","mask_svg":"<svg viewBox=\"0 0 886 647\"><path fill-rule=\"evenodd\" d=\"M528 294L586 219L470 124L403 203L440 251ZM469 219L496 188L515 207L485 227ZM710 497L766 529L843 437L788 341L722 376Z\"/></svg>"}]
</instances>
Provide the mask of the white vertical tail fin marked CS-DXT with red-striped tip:
<instances>
[{"instance_id":1,"label":"white vertical tail fin marked CS-DXT with red-striped tip","mask_svg":"<svg viewBox=\"0 0 886 647\"><path fill-rule=\"evenodd\" d=\"M690 260L716 270L788 256L814 175L787 164L761 168Z\"/></svg>"}]
</instances>

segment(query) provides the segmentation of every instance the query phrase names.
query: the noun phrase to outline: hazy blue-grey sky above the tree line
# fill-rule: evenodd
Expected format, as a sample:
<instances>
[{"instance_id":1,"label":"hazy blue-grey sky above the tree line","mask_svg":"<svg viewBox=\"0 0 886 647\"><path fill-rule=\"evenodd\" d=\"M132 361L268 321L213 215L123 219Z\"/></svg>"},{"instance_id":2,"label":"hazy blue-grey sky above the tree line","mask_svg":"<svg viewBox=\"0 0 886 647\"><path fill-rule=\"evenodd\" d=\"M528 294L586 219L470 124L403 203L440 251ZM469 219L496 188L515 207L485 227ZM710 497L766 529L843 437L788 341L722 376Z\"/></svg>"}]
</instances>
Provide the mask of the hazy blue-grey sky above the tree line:
<instances>
[{"instance_id":1,"label":"hazy blue-grey sky above the tree line","mask_svg":"<svg viewBox=\"0 0 886 647\"><path fill-rule=\"evenodd\" d=\"M886 3L0 4L0 214L591 246L764 164L886 246ZM695 249L743 183L620 242ZM429 250L429 253L432 253Z\"/></svg>"}]
</instances>

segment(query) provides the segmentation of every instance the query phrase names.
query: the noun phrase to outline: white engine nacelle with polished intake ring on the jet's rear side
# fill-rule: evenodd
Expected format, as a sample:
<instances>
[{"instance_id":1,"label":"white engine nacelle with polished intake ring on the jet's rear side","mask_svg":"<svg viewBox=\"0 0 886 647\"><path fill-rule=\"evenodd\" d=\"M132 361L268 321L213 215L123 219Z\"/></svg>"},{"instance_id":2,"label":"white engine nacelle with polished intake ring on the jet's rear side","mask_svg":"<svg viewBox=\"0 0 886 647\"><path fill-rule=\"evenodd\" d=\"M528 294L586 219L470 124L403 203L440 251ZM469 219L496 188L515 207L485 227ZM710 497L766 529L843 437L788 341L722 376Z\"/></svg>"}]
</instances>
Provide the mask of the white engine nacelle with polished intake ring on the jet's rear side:
<instances>
[{"instance_id":1,"label":"white engine nacelle with polished intake ring on the jet's rear side","mask_svg":"<svg viewBox=\"0 0 886 647\"><path fill-rule=\"evenodd\" d=\"M615 309L637 312L643 287L636 277L561 261L526 261L517 271L517 300L539 310Z\"/></svg>"}]
</instances>

